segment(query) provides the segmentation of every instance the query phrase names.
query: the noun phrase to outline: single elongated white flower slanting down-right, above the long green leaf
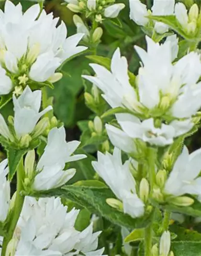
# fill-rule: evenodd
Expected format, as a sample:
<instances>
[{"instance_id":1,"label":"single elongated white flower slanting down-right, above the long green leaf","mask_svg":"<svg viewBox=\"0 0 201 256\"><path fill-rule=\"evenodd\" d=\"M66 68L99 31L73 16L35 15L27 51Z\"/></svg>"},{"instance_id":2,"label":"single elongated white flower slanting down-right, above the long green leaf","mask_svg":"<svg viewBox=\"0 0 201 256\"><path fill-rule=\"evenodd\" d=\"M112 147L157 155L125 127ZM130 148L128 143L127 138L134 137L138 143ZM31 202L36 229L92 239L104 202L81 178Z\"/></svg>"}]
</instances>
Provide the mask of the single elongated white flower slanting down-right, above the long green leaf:
<instances>
[{"instance_id":1,"label":"single elongated white flower slanting down-right, above the long green leaf","mask_svg":"<svg viewBox=\"0 0 201 256\"><path fill-rule=\"evenodd\" d=\"M113 155L98 152L98 161L93 161L92 165L117 198L123 202L124 213L133 218L144 214L144 203L136 195L135 180L129 169L129 161L122 164L119 149L114 148Z\"/></svg>"}]
</instances>

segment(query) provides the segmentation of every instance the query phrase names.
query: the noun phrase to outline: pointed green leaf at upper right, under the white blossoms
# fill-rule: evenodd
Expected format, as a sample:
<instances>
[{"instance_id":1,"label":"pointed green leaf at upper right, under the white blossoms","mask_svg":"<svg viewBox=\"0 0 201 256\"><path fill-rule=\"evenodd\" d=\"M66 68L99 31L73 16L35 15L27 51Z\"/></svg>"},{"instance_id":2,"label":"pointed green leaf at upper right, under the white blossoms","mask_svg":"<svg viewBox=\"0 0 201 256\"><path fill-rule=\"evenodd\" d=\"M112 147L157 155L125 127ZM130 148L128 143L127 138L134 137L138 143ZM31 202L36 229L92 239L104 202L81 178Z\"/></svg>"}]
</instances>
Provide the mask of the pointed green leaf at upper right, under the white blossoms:
<instances>
[{"instance_id":1,"label":"pointed green leaf at upper right, under the white blossoms","mask_svg":"<svg viewBox=\"0 0 201 256\"><path fill-rule=\"evenodd\" d=\"M192 40L193 37L190 35L187 35L185 31L183 30L182 26L178 22L176 16L174 15L167 15L167 16L154 16L150 15L147 16L150 20L154 20L157 22L162 22L164 24L167 24L171 29L176 31L181 37L187 39L187 40Z\"/></svg>"}]
</instances>

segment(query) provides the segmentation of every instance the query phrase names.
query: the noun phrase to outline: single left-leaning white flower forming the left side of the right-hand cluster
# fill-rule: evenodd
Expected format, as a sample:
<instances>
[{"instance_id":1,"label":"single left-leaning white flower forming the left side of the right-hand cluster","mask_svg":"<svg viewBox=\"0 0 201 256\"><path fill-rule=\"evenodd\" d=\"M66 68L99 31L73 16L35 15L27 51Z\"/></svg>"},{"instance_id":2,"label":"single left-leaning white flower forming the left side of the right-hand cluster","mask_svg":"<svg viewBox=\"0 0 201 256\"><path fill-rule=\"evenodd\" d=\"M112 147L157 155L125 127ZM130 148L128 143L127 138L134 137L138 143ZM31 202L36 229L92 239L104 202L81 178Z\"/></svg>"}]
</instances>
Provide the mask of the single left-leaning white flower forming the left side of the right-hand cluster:
<instances>
[{"instance_id":1,"label":"single left-leaning white flower forming the left side of the right-hand cluster","mask_svg":"<svg viewBox=\"0 0 201 256\"><path fill-rule=\"evenodd\" d=\"M128 64L126 58L121 57L119 48L112 56L112 72L98 64L90 64L90 66L96 76L83 75L83 77L103 91L103 98L112 108L123 106L130 110L138 110L137 94L129 83Z\"/></svg>"}]
</instances>

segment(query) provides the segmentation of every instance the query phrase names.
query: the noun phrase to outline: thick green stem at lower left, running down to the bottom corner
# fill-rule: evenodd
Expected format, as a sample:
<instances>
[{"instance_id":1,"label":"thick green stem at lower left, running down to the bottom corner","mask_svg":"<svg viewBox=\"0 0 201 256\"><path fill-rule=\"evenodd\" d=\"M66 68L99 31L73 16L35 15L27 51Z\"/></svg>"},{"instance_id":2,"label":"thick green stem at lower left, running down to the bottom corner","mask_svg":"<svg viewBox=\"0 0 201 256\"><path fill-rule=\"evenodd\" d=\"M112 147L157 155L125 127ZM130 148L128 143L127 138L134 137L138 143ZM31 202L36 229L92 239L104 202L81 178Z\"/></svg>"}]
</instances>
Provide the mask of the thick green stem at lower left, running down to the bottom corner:
<instances>
[{"instance_id":1,"label":"thick green stem at lower left, running down to the bottom corner","mask_svg":"<svg viewBox=\"0 0 201 256\"><path fill-rule=\"evenodd\" d=\"M8 227L7 235L3 239L1 256L5 256L7 245L12 239L18 219L20 218L20 214L21 214L23 202L24 202L24 196L21 195L21 191L23 190L23 183L22 183L23 180L24 180L24 169L23 169L23 158L22 158L20 160L20 163L17 169L17 191L16 191L15 204L11 212L10 221L8 222L8 225L7 225Z\"/></svg>"}]
</instances>

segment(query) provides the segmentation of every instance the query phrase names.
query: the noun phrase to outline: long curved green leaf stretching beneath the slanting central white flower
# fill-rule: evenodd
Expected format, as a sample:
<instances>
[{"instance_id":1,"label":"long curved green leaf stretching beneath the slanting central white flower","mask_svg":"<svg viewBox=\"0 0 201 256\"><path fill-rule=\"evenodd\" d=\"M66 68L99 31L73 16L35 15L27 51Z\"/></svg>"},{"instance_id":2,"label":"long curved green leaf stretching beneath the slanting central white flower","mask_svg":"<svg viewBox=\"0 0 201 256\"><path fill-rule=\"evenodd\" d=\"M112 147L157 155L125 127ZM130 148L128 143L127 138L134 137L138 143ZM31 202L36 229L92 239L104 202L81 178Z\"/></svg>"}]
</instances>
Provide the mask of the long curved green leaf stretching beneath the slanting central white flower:
<instances>
[{"instance_id":1,"label":"long curved green leaf stretching beneath the slanting central white flower","mask_svg":"<svg viewBox=\"0 0 201 256\"><path fill-rule=\"evenodd\" d=\"M62 196L72 200L81 207L87 208L95 214L101 214L102 217L110 220L114 224L124 226L129 229L144 228L152 218L153 212L145 214L144 217L133 219L128 214L124 214L106 203L107 198L115 197L109 188L94 188L85 186L68 185L62 189L54 189L51 191L44 191L34 193L32 196Z\"/></svg>"}]
</instances>

